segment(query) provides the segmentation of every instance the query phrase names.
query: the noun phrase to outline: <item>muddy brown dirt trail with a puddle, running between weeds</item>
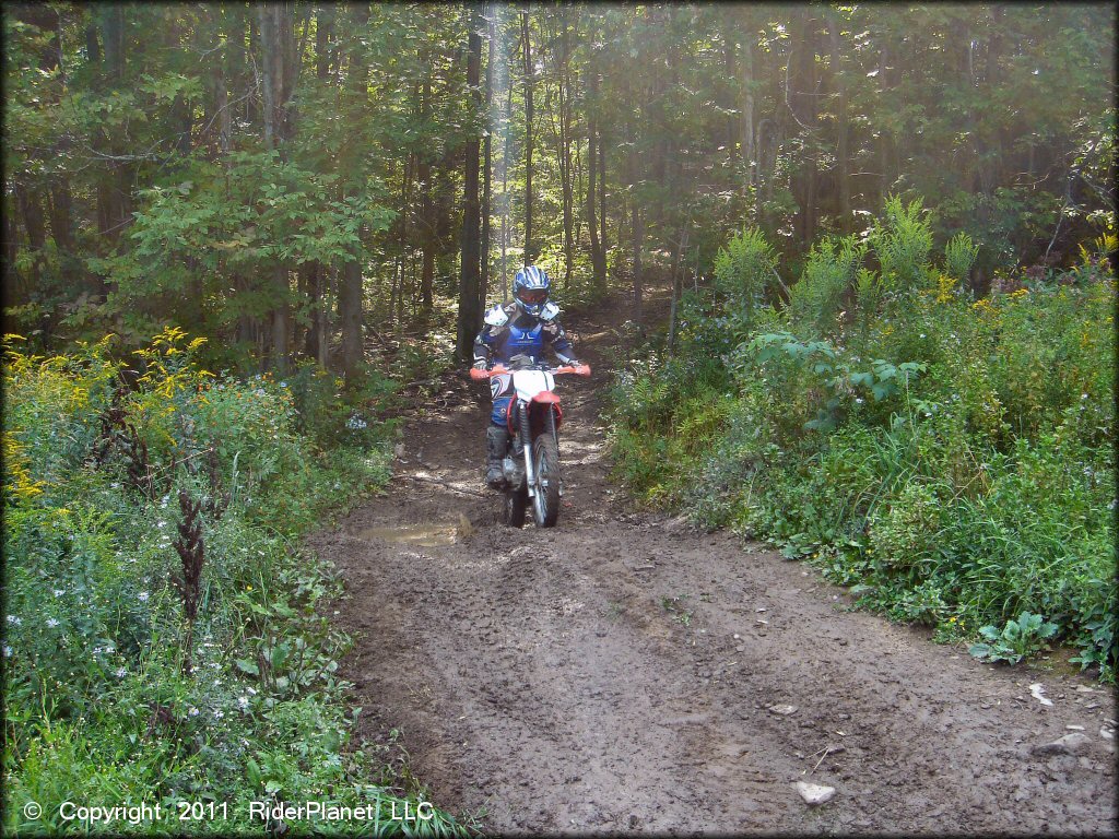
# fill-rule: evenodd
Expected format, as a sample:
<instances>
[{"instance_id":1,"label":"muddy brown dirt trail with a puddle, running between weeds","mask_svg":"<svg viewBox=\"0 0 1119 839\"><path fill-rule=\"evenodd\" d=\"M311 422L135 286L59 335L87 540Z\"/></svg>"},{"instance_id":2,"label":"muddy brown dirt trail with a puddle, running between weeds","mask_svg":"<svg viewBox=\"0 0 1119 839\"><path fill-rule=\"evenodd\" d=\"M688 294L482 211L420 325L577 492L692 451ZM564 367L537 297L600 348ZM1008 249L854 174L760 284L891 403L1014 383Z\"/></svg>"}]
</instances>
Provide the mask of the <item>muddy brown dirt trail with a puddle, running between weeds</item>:
<instances>
[{"instance_id":1,"label":"muddy brown dirt trail with a puddle, running between weeds","mask_svg":"<svg viewBox=\"0 0 1119 839\"><path fill-rule=\"evenodd\" d=\"M841 611L799 563L628 508L598 416L611 311L568 322L595 377L557 388L558 527L497 524L488 393L460 375L388 494L311 539L348 581L360 736L398 728L433 800L489 833L1113 833L1111 691L980 664ZM1033 754L1066 726L1079 752ZM798 780L836 795L809 808Z\"/></svg>"}]
</instances>

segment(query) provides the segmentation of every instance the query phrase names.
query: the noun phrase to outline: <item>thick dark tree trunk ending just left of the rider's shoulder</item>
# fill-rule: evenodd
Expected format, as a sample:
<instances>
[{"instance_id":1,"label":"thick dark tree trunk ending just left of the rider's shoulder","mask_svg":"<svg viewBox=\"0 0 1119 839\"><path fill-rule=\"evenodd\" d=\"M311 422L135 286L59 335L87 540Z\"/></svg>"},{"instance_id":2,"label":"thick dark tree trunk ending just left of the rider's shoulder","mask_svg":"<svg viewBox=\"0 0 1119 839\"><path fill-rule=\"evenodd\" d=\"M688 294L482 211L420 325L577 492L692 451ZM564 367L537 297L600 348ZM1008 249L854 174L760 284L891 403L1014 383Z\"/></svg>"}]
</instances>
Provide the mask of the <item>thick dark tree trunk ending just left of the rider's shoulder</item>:
<instances>
[{"instance_id":1,"label":"thick dark tree trunk ending just left of the rider's shoulder","mask_svg":"<svg viewBox=\"0 0 1119 839\"><path fill-rule=\"evenodd\" d=\"M473 91L476 109L481 107L478 83L481 75L482 39L478 34L483 25L480 7L474 7L467 45L467 86ZM482 301L479 249L481 229L478 202L479 139L473 136L467 143L466 172L462 201L462 260L459 268L459 320L455 346L461 361L471 358L474 336L481 327Z\"/></svg>"}]
</instances>

